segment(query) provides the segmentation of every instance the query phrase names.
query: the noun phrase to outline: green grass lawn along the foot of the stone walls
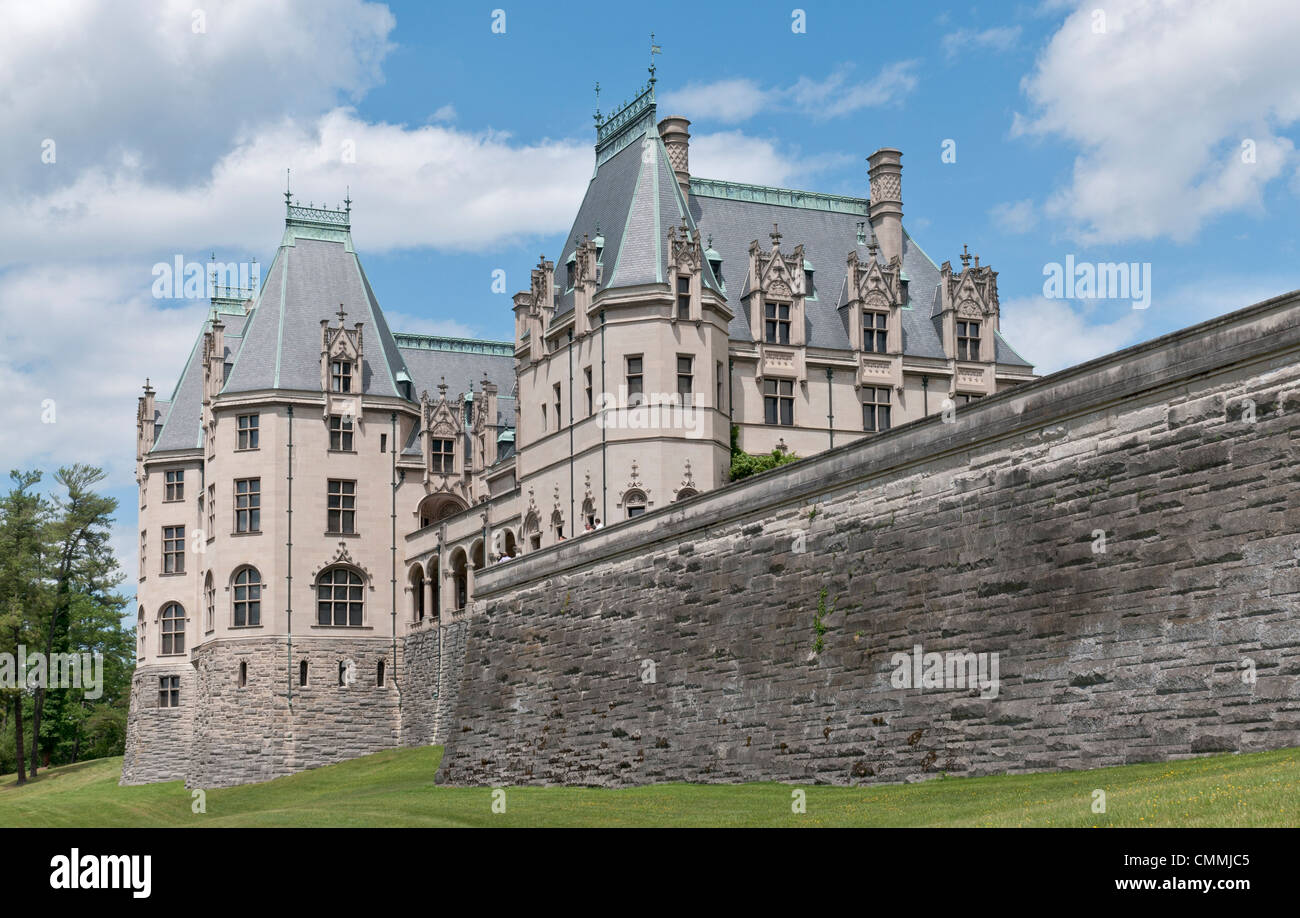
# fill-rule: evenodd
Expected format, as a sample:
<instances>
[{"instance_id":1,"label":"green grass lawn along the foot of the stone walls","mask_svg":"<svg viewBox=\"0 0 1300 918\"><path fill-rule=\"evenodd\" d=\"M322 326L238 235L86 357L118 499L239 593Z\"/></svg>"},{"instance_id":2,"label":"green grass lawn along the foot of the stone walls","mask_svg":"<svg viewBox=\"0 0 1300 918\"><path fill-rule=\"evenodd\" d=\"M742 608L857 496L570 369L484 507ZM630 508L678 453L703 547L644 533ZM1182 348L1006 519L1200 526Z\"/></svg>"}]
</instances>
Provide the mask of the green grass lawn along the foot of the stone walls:
<instances>
[{"instance_id":1,"label":"green grass lawn along the foot of the stone walls","mask_svg":"<svg viewBox=\"0 0 1300 918\"><path fill-rule=\"evenodd\" d=\"M944 778L867 788L659 784L618 791L433 783L441 746L396 749L265 784L209 791L192 814L183 784L118 787L122 759L0 778L0 826L1296 826L1300 749L1095 771ZM1106 813L1092 792L1106 792Z\"/></svg>"}]
</instances>

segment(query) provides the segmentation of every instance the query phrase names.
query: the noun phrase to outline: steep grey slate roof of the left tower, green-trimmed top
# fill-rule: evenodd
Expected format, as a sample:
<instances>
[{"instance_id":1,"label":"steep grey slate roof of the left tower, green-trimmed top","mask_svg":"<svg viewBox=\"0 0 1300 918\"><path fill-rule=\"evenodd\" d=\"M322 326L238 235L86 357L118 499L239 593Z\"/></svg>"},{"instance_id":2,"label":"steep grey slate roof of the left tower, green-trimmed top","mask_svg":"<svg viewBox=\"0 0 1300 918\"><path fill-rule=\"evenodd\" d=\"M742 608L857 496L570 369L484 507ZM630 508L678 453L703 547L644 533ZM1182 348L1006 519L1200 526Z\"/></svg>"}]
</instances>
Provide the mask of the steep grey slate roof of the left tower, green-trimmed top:
<instances>
[{"instance_id":1,"label":"steep grey slate roof of the left tower, green-trimmed top","mask_svg":"<svg viewBox=\"0 0 1300 918\"><path fill-rule=\"evenodd\" d=\"M285 234L222 391L320 391L321 320L361 325L360 391L402 398L402 352L352 247L344 211L286 205Z\"/></svg>"}]
</instances>

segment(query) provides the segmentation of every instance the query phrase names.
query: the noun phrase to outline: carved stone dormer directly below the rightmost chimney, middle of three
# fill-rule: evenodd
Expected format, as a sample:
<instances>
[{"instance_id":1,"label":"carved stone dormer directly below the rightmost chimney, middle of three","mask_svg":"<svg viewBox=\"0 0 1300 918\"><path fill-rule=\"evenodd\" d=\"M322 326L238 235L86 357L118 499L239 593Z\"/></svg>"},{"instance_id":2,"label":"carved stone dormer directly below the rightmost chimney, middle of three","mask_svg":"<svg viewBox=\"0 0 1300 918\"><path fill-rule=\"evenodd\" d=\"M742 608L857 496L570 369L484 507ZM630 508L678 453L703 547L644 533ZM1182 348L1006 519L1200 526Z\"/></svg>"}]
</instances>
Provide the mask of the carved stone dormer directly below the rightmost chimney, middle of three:
<instances>
[{"instance_id":1,"label":"carved stone dormer directly below the rightmost chimney, middle of three","mask_svg":"<svg viewBox=\"0 0 1300 918\"><path fill-rule=\"evenodd\" d=\"M894 255L883 264L875 242L868 257L849 252L849 302L841 309L849 326L849 339L858 356L862 385L892 385L902 391L902 313L906 294L902 287L902 260Z\"/></svg>"}]
</instances>

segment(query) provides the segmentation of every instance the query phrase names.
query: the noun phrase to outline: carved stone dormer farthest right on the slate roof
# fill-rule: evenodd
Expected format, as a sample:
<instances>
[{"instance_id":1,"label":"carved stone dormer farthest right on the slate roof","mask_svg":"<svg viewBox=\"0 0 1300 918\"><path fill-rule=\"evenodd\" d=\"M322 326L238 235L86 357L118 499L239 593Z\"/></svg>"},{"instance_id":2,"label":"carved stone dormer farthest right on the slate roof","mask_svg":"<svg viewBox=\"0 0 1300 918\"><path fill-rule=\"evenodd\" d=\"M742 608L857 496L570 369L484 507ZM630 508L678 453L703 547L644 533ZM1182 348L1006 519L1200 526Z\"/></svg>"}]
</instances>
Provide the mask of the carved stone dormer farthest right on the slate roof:
<instances>
[{"instance_id":1,"label":"carved stone dormer farthest right on the slate roof","mask_svg":"<svg viewBox=\"0 0 1300 918\"><path fill-rule=\"evenodd\" d=\"M953 273L950 261L939 269L944 352L956 363L952 393L989 394L993 391L993 364L997 360L1000 307L997 272L980 265L979 255L962 246L962 270ZM978 367L976 364L984 364Z\"/></svg>"}]
</instances>

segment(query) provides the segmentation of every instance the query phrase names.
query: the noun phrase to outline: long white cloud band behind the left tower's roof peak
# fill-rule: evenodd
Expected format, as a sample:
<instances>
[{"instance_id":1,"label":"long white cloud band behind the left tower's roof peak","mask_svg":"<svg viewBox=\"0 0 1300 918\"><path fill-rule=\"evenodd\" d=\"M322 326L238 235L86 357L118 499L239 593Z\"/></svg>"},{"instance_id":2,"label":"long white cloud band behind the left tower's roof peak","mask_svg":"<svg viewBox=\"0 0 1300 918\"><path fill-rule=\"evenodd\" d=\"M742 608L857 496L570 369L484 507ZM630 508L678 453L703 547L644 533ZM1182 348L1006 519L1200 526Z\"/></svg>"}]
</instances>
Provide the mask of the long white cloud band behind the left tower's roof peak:
<instances>
[{"instance_id":1,"label":"long white cloud band behind the left tower's roof peak","mask_svg":"<svg viewBox=\"0 0 1300 918\"><path fill-rule=\"evenodd\" d=\"M124 259L229 246L265 252L283 225L286 164L303 203L325 195L341 207L351 187L354 235L365 251L481 251L564 229L590 178L592 152L568 140L519 144L446 125L370 124L335 109L261 129L200 183L153 182L120 163L44 195L0 199L0 265L60 251Z\"/></svg>"}]
</instances>

